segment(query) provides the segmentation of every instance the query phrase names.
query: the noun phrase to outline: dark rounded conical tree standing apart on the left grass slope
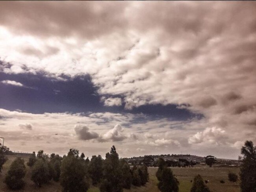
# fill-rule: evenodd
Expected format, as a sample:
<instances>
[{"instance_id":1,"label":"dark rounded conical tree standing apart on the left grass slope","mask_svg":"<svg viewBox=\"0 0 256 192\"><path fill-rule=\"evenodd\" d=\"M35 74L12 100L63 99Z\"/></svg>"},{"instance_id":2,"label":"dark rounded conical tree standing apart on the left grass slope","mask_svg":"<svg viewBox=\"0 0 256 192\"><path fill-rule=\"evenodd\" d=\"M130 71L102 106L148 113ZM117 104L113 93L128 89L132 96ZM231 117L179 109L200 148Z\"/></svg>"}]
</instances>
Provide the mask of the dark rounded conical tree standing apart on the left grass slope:
<instances>
[{"instance_id":1,"label":"dark rounded conical tree standing apart on the left grass slope","mask_svg":"<svg viewBox=\"0 0 256 192\"><path fill-rule=\"evenodd\" d=\"M25 185L25 182L23 181L23 177L25 177L25 174L26 168L24 164L24 159L18 157L11 163L4 183L6 183L6 185L12 190L21 189Z\"/></svg>"}]
</instances>

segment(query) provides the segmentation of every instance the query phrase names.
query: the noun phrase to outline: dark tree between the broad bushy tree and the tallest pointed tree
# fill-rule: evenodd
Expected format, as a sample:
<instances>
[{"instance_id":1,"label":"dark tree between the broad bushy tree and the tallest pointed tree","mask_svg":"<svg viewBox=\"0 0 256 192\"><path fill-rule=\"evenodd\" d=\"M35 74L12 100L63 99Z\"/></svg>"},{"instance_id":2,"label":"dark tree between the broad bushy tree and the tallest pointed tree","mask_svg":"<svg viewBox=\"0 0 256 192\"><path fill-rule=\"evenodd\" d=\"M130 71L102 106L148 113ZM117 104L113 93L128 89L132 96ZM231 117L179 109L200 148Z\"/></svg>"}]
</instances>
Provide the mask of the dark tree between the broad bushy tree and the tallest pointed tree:
<instances>
[{"instance_id":1,"label":"dark tree between the broad bushy tree and the tallest pointed tree","mask_svg":"<svg viewBox=\"0 0 256 192\"><path fill-rule=\"evenodd\" d=\"M98 157L93 155L88 165L88 173L92 179L93 185L100 183L103 175L103 159L100 155L98 155Z\"/></svg>"}]
</instances>

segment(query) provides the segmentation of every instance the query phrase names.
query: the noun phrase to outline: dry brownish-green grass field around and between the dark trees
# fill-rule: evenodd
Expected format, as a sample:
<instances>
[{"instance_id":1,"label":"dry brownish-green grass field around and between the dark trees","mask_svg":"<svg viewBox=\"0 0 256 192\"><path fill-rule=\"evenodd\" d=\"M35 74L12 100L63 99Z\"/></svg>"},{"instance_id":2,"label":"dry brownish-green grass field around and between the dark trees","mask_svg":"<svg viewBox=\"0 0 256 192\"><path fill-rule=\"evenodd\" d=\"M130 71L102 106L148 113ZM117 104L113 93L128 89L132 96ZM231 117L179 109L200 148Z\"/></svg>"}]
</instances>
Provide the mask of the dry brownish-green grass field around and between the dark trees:
<instances>
[{"instance_id":1,"label":"dry brownish-green grass field around and between the dark trees","mask_svg":"<svg viewBox=\"0 0 256 192\"><path fill-rule=\"evenodd\" d=\"M3 183L4 177L11 162L15 159L15 157L9 156L8 161L4 164L4 168L2 173L0 173L0 192L10 192L7 186ZM27 159L25 158L25 161ZM156 179L156 171L158 168L148 168L149 172L149 182L145 186L135 187L132 186L130 190L124 190L124 192L159 192L157 188L157 179ZM61 192L61 186L59 183L51 181L47 185L43 185L41 188L38 188L34 185L34 183L30 180L30 168L27 167L27 174L25 176L26 186L23 190L18 190L18 192ZM190 182L193 180L193 177L197 174L200 174L204 180L208 179L210 182L207 184L211 190L211 192L239 192L239 183L232 183L228 181L228 173L235 172L239 173L239 168L217 168L217 167L206 167L206 166L196 166L194 168L172 168L173 173L176 175L178 180L180 181L179 192L189 192L192 186ZM225 181L224 184L220 183L220 180L223 179ZM96 187L91 187L89 192L100 192L100 190Z\"/></svg>"}]
</instances>

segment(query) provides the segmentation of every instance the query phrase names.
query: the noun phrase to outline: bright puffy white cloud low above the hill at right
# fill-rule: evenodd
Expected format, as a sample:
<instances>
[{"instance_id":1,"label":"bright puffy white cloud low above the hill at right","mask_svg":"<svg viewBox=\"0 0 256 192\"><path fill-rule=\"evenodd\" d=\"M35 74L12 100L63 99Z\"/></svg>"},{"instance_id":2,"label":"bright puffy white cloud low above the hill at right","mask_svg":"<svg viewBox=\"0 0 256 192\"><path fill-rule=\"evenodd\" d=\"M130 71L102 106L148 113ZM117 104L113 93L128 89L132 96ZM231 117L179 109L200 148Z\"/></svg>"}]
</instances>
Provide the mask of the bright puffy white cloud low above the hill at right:
<instances>
[{"instance_id":1,"label":"bright puffy white cloud low above the hill at right","mask_svg":"<svg viewBox=\"0 0 256 192\"><path fill-rule=\"evenodd\" d=\"M197 132L195 135L188 138L189 144L200 144L203 142L210 144L219 144L226 138L226 133L223 129L217 127L207 127L204 131Z\"/></svg>"}]
</instances>

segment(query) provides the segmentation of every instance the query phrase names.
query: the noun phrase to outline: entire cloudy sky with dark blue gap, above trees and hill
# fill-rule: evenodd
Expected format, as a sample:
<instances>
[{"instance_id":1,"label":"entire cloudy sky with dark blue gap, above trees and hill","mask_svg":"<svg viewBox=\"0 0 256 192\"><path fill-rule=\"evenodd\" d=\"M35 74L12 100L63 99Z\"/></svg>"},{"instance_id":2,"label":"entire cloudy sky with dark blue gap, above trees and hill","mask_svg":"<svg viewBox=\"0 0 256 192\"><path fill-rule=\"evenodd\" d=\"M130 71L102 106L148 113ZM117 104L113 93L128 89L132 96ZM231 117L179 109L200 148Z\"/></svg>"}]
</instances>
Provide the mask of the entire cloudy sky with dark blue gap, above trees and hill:
<instances>
[{"instance_id":1,"label":"entire cloudy sky with dark blue gap, above trees and hill","mask_svg":"<svg viewBox=\"0 0 256 192\"><path fill-rule=\"evenodd\" d=\"M1 1L0 137L13 151L237 159L256 142L255 13L253 1Z\"/></svg>"}]
</instances>

